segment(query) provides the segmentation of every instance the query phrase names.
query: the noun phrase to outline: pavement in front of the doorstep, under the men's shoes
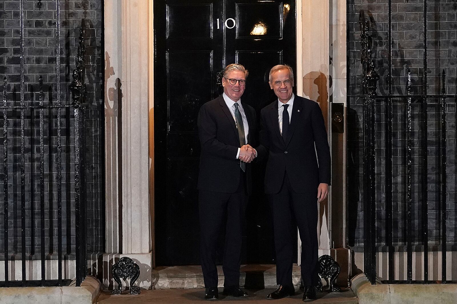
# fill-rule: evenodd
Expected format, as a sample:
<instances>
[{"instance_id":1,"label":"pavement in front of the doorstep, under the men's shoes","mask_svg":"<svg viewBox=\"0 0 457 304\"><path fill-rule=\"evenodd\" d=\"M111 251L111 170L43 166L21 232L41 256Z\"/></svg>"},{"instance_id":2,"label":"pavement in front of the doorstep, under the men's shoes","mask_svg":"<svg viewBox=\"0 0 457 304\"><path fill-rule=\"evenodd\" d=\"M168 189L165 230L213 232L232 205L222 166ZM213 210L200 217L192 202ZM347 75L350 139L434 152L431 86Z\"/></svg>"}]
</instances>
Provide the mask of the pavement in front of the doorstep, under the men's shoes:
<instances>
[{"instance_id":1,"label":"pavement in front of the doorstep, under the men's shoes","mask_svg":"<svg viewBox=\"0 0 457 304\"><path fill-rule=\"evenodd\" d=\"M230 296L223 296L221 294L223 288L219 288L219 300L208 301L203 299L204 288L172 288L172 289L152 289L141 290L141 294L130 295L128 292L123 294L112 295L108 291L103 291L98 297L97 304L155 304L155 303L168 303L168 304L181 304L181 303L239 303L239 304L298 304L302 302L303 290L297 290L295 295L279 300L266 299L266 295L270 294L275 288L266 289L244 289L249 297L247 298L234 298ZM321 292L317 294L318 299L307 302L313 304L357 304L357 298L351 289L341 293L330 294L328 292Z\"/></svg>"}]
</instances>

